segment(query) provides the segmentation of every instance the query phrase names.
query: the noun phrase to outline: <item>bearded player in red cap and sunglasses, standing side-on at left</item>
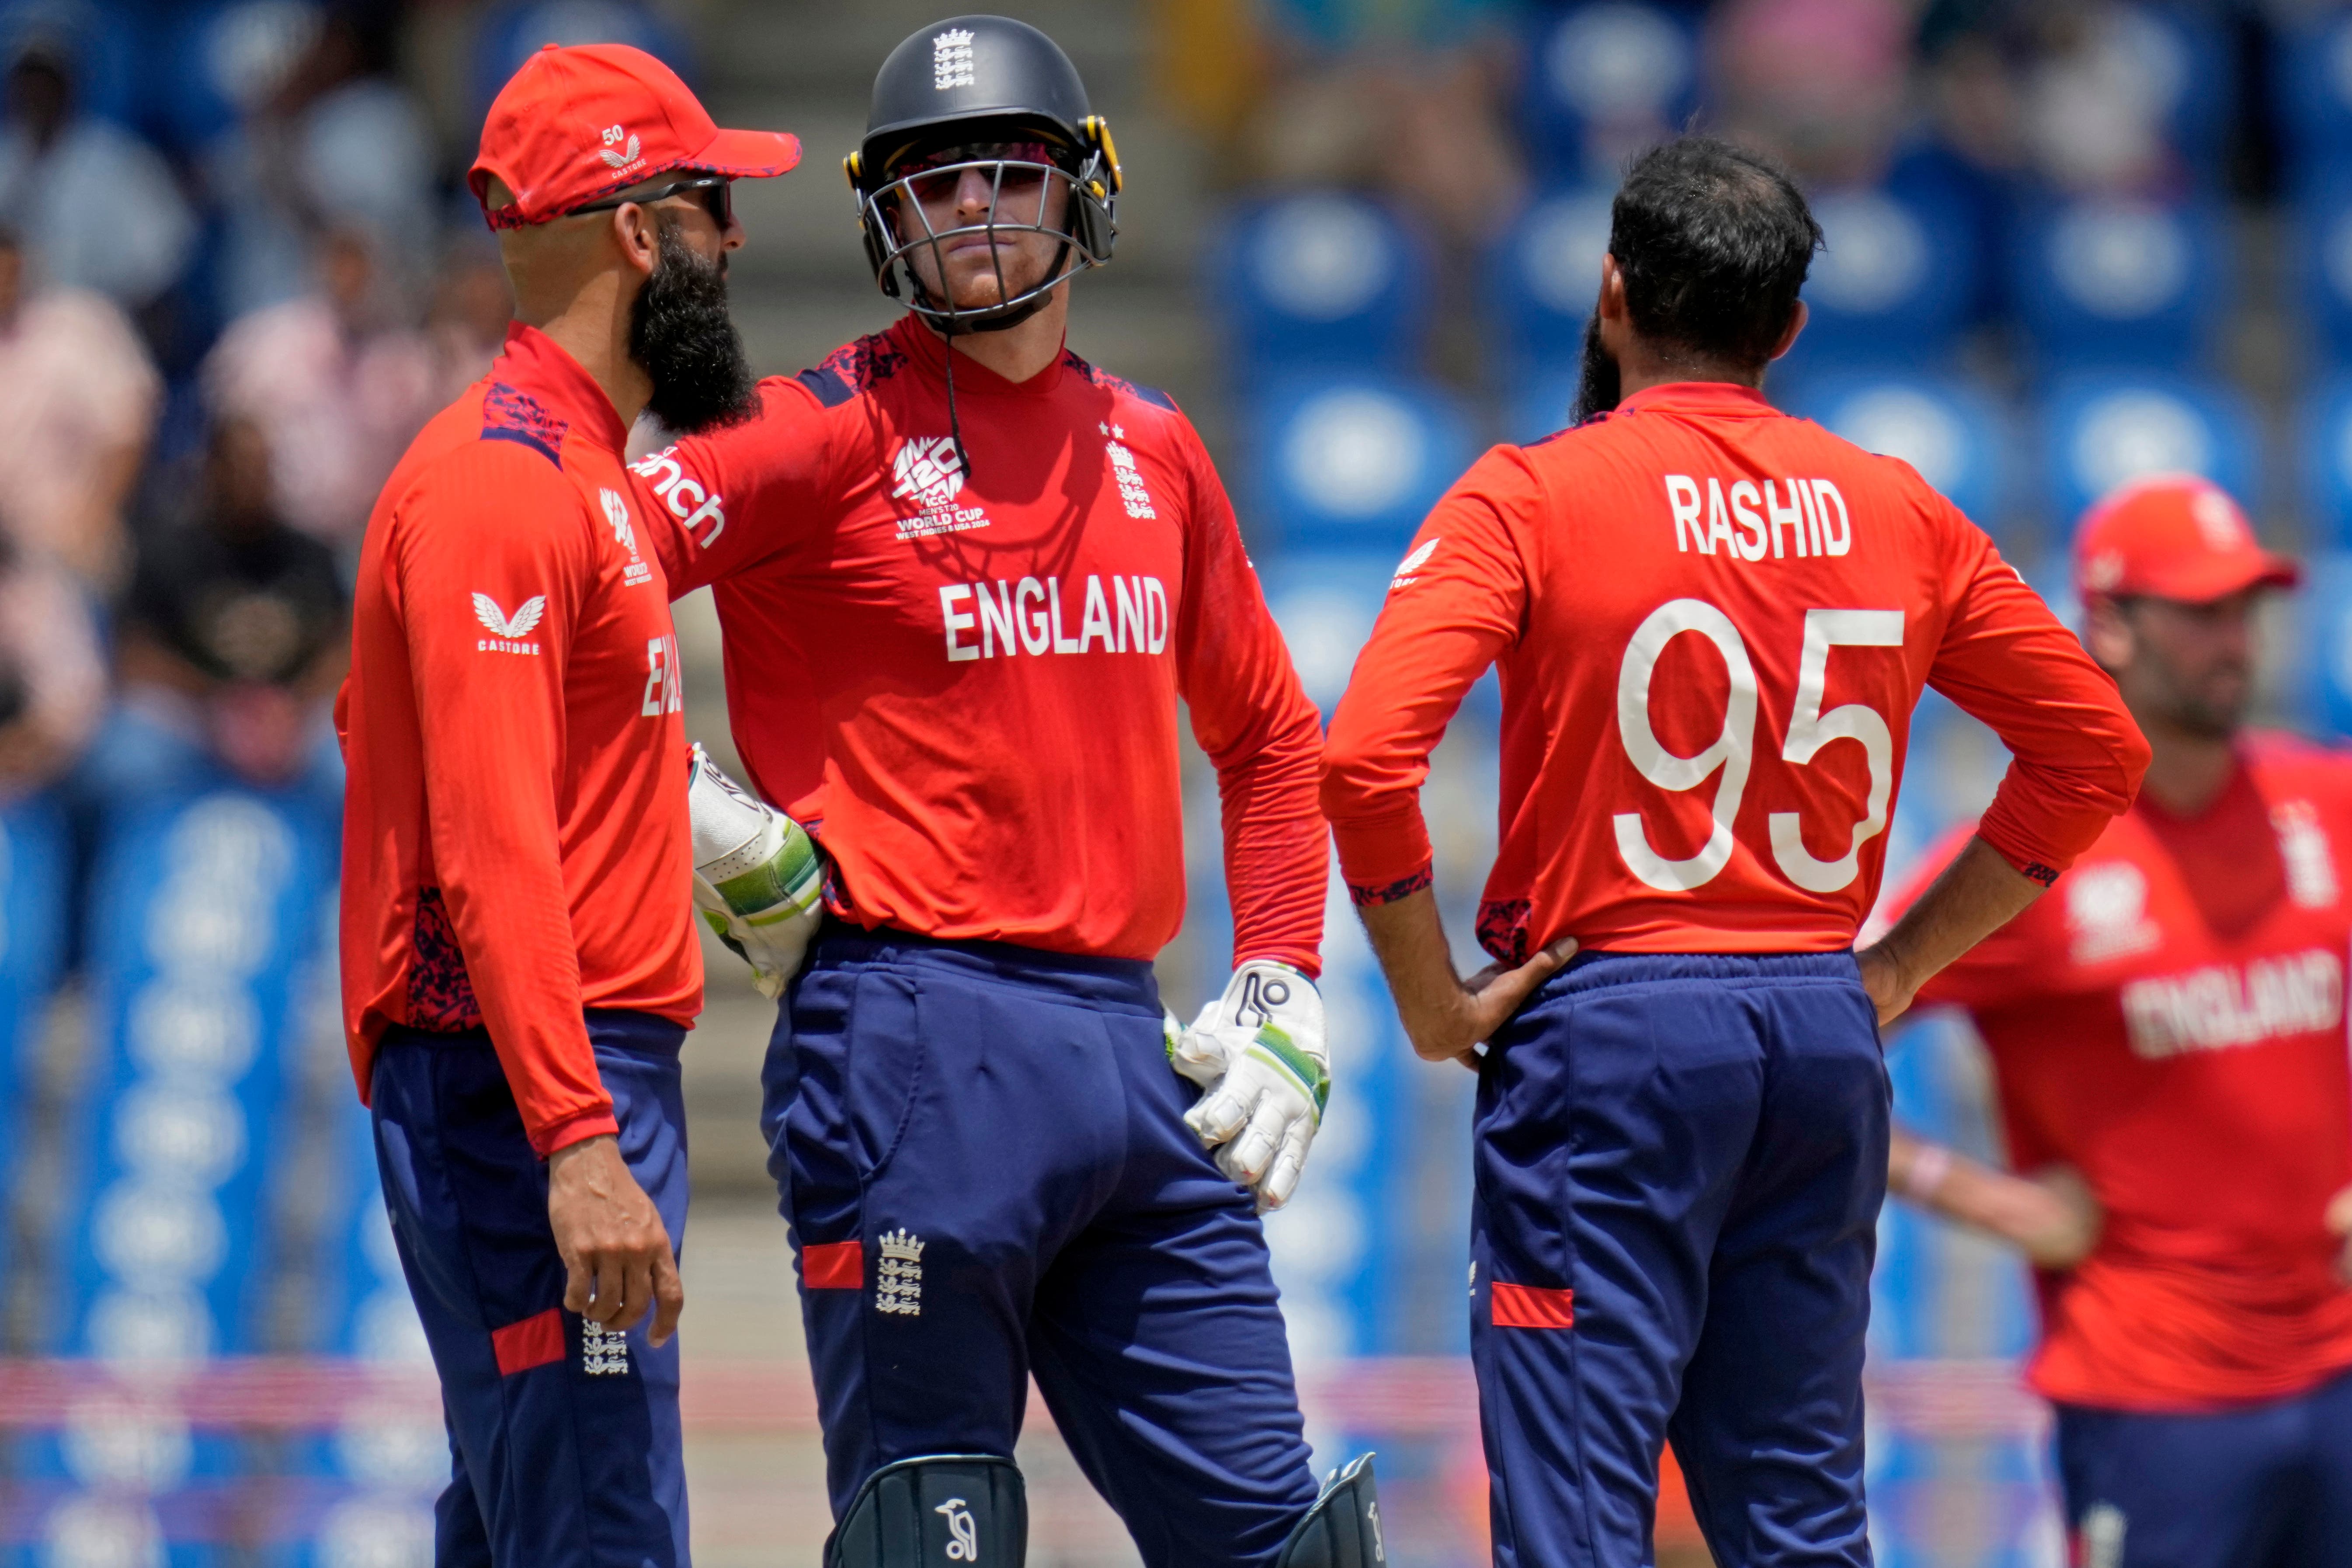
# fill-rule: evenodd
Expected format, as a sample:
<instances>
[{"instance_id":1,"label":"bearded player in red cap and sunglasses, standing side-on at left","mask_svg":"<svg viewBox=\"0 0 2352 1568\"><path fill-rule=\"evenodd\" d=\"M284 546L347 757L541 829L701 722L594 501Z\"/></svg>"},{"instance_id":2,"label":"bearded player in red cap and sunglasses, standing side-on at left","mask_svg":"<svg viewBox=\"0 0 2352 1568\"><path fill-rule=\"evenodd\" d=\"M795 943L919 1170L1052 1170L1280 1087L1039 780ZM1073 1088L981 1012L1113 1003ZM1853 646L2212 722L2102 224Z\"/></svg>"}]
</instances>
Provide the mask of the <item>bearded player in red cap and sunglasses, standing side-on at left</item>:
<instances>
[{"instance_id":1,"label":"bearded player in red cap and sunglasses, standing side-on at left","mask_svg":"<svg viewBox=\"0 0 2352 1568\"><path fill-rule=\"evenodd\" d=\"M343 1018L442 1378L445 1566L687 1561L696 856L668 585L621 451L647 407L746 407L727 188L797 153L717 129L637 49L524 63L470 174L515 287L506 353L367 527L336 715Z\"/></svg>"}]
</instances>

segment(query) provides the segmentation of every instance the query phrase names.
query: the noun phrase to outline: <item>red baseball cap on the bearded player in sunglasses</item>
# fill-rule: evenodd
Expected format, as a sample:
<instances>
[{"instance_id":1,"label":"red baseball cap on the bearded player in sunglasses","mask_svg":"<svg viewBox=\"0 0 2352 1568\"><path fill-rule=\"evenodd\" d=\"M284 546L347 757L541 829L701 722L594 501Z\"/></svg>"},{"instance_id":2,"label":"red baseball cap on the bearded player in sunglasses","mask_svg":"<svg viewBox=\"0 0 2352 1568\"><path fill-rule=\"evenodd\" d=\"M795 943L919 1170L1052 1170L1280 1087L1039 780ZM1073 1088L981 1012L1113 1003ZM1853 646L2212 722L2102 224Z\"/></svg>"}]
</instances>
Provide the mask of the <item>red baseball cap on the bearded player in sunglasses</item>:
<instances>
[{"instance_id":1,"label":"red baseball cap on the bearded player in sunglasses","mask_svg":"<svg viewBox=\"0 0 2352 1568\"><path fill-rule=\"evenodd\" d=\"M546 45L492 101L466 183L492 228L527 228L673 169L771 179L797 162L797 136L722 132L644 49ZM496 212L492 176L515 193Z\"/></svg>"}]
</instances>

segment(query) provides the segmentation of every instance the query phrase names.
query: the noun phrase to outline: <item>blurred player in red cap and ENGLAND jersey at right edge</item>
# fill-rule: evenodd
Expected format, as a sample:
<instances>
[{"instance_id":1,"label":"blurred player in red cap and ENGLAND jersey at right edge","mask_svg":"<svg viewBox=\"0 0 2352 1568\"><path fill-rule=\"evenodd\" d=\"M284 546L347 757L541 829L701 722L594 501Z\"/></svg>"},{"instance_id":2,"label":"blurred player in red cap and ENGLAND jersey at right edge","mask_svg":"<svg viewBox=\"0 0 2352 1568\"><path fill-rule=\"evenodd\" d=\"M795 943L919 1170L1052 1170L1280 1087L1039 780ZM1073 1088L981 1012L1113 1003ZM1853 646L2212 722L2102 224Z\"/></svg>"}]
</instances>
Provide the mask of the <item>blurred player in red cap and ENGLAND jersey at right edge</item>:
<instances>
[{"instance_id":1,"label":"blurred player in red cap and ENGLAND jersey at right edge","mask_svg":"<svg viewBox=\"0 0 2352 1568\"><path fill-rule=\"evenodd\" d=\"M2241 729L2253 607L2298 571L2227 494L2117 491L2074 571L2154 762L2056 898L1919 994L1973 1016L2020 1175L1896 1133L1891 1187L2039 1269L2077 1563L2343 1563L2352 759Z\"/></svg>"}]
</instances>

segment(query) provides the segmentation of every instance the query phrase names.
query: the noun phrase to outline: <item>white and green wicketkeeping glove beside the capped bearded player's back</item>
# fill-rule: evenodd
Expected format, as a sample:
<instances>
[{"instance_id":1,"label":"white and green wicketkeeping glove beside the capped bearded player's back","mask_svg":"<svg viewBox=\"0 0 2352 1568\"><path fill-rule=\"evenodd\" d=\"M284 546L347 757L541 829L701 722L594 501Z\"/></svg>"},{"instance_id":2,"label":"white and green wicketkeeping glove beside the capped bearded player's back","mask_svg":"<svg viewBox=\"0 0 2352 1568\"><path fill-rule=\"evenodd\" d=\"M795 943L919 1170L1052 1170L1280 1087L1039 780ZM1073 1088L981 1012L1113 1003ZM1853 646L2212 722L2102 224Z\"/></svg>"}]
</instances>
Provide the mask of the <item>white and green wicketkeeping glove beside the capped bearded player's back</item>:
<instances>
[{"instance_id":1,"label":"white and green wicketkeeping glove beside the capped bearded player's back","mask_svg":"<svg viewBox=\"0 0 2352 1568\"><path fill-rule=\"evenodd\" d=\"M701 745L691 766L694 907L750 964L750 983L774 1001L816 936L826 884L816 839L753 799Z\"/></svg>"}]
</instances>

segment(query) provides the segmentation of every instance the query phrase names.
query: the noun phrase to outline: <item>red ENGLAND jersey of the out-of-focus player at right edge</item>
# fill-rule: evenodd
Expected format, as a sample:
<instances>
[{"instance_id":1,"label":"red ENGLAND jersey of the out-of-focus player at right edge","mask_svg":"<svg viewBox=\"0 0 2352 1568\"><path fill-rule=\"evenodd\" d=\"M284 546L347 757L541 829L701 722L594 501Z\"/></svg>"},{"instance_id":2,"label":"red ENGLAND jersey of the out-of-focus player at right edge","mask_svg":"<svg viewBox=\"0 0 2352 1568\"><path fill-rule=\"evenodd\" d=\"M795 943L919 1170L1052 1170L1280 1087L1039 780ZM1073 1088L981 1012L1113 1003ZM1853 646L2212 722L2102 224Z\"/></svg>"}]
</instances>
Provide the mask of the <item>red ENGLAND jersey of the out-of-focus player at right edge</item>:
<instances>
[{"instance_id":1,"label":"red ENGLAND jersey of the out-of-focus player at right edge","mask_svg":"<svg viewBox=\"0 0 2352 1568\"><path fill-rule=\"evenodd\" d=\"M2211 1410L2352 1366L2326 1225L2352 1185L2347 891L2352 757L2251 736L2211 806L2140 797L1919 992L1973 1013L2009 1164L2065 1161L2105 1211L2091 1255L2039 1276L2044 1396Z\"/></svg>"}]
</instances>

